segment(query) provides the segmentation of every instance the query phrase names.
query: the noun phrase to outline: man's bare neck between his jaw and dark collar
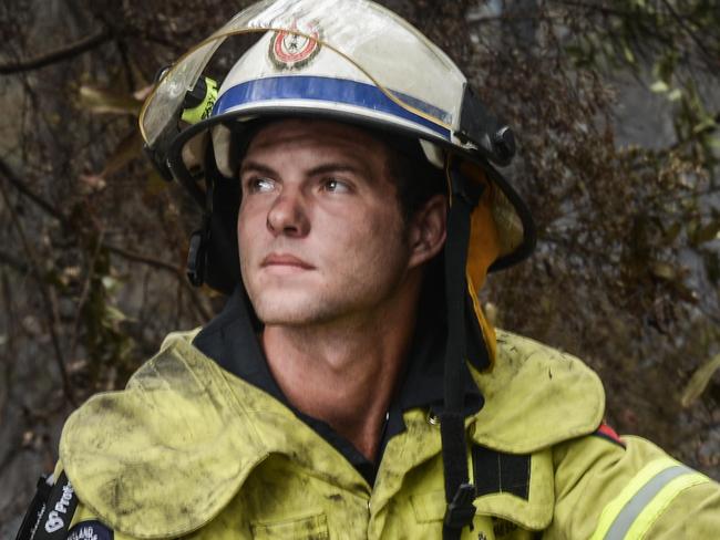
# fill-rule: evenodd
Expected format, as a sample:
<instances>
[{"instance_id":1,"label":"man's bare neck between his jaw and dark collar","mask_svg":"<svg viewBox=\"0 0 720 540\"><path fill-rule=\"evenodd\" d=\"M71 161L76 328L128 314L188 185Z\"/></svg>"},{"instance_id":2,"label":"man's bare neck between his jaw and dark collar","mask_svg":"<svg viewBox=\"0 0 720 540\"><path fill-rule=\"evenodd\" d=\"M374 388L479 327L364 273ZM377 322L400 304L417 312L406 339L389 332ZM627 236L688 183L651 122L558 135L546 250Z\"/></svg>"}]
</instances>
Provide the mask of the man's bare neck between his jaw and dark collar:
<instances>
[{"instance_id":1,"label":"man's bare neck between his jaw and dark collar","mask_svg":"<svg viewBox=\"0 0 720 540\"><path fill-rule=\"evenodd\" d=\"M361 319L267 325L263 332L268 365L288 401L373 461L414 332L418 288L412 289Z\"/></svg>"}]
</instances>

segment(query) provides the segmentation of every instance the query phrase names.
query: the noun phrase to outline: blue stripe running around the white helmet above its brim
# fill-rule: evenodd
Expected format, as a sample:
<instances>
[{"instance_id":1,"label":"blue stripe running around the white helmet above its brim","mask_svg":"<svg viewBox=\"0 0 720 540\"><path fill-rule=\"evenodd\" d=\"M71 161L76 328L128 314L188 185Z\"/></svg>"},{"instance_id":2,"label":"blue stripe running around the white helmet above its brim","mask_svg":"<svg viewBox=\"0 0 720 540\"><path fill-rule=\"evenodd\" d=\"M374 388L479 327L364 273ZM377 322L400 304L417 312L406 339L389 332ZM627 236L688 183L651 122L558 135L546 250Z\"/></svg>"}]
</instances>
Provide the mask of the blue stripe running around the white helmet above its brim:
<instances>
[{"instance_id":1,"label":"blue stripe running around the white helmet above its brim","mask_svg":"<svg viewBox=\"0 0 720 540\"><path fill-rule=\"evenodd\" d=\"M409 105L446 122L449 114L415 97L395 92L398 97ZM310 100L343 103L359 107L392 114L415 124L429 127L442 137L450 139L450 131L419 116L390 100L380 89L372 84L331 79L323 76L274 76L247 81L228 89L215 103L213 116L246 103L268 100Z\"/></svg>"}]
</instances>

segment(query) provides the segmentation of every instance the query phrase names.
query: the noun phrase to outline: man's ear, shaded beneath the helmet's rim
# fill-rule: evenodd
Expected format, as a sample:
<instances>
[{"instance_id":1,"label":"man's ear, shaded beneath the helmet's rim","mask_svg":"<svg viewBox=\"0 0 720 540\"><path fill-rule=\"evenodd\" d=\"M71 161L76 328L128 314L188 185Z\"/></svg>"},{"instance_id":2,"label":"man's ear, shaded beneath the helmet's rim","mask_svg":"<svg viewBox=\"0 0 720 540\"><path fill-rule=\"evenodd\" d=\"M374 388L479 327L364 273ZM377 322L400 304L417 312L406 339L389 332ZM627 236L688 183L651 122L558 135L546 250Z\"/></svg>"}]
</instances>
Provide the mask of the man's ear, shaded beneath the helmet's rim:
<instances>
[{"instance_id":1,"label":"man's ear, shaded beneath the helmet's rim","mask_svg":"<svg viewBox=\"0 0 720 540\"><path fill-rule=\"evenodd\" d=\"M433 195L412 217L409 229L410 262L414 268L435 257L445 245L448 197Z\"/></svg>"}]
</instances>

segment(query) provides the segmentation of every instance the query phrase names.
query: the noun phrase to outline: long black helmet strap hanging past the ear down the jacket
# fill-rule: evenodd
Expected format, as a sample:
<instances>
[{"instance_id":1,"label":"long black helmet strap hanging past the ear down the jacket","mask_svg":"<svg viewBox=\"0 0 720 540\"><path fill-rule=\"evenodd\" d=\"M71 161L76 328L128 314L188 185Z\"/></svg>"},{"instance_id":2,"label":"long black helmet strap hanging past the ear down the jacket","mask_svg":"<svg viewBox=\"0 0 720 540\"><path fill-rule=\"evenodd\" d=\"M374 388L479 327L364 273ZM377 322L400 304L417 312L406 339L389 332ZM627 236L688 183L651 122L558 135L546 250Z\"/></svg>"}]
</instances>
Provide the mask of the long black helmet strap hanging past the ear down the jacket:
<instances>
[{"instance_id":1,"label":"long black helmet strap hanging past the ear down the jacket","mask_svg":"<svg viewBox=\"0 0 720 540\"><path fill-rule=\"evenodd\" d=\"M470 241L470 219L483 191L481 184L465 178L455 167L449 170L452 205L448 215L445 245L445 301L448 304L448 346L445 347L444 408L440 414L440 435L445 475L448 508L443 539L459 539L475 516L475 487L467 475L465 442L463 366L466 361L465 266Z\"/></svg>"}]
</instances>

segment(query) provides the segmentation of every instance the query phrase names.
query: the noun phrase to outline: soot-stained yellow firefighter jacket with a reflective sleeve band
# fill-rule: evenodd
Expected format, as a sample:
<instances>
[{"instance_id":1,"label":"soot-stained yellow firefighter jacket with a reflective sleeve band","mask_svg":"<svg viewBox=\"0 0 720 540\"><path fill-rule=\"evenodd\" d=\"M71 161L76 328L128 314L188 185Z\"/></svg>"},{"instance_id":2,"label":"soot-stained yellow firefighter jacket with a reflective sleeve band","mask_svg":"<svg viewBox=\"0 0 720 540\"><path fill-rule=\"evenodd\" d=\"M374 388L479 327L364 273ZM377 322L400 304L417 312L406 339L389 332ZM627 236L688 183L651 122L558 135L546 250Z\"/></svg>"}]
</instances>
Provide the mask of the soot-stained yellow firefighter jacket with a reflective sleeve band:
<instances>
[{"instance_id":1,"label":"soot-stained yellow firefighter jacket with a reflective sleeve band","mask_svg":"<svg viewBox=\"0 0 720 540\"><path fill-rule=\"evenodd\" d=\"M126 390L70 417L22 538L441 538L432 407L402 412L371 484L196 335L168 335ZM470 374L484 404L466 419L476 515L463 539L720 538L718 484L604 428L603 386L577 359L498 331L494 367Z\"/></svg>"}]
</instances>

